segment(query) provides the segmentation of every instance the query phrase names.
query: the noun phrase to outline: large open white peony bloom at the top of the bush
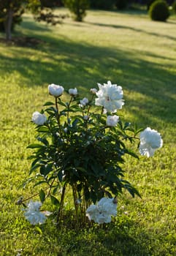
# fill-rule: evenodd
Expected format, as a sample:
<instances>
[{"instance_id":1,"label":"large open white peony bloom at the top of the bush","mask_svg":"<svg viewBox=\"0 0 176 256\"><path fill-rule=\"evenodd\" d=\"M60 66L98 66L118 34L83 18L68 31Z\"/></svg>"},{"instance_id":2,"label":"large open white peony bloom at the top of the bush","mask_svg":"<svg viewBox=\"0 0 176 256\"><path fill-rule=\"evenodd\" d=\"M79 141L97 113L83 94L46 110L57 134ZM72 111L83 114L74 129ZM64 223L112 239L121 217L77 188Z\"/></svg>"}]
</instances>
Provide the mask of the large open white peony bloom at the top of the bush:
<instances>
[{"instance_id":1,"label":"large open white peony bloom at the top of the bush","mask_svg":"<svg viewBox=\"0 0 176 256\"><path fill-rule=\"evenodd\" d=\"M103 106L107 112L115 113L124 105L123 91L121 86L112 84L110 81L104 85L98 83L99 91L96 92L98 97L95 100L95 105Z\"/></svg>"}]
</instances>

